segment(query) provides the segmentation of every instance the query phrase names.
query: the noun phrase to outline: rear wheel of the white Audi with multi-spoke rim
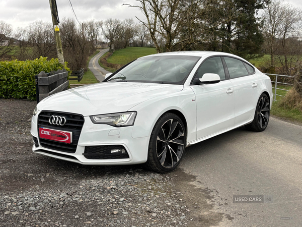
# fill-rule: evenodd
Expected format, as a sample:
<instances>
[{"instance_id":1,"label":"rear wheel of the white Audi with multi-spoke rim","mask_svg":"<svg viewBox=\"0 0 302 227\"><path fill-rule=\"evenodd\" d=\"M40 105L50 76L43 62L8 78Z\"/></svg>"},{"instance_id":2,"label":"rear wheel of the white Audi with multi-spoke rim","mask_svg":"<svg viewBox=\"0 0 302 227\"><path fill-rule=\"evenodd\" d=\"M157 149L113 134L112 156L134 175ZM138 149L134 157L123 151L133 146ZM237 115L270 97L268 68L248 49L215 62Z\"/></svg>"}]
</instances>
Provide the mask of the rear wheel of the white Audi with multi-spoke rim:
<instances>
[{"instance_id":1,"label":"rear wheel of the white Audi with multi-spoke rim","mask_svg":"<svg viewBox=\"0 0 302 227\"><path fill-rule=\"evenodd\" d=\"M262 94L257 102L254 120L246 128L255 132L262 132L266 129L270 116L269 99L266 94Z\"/></svg>"}]
</instances>

